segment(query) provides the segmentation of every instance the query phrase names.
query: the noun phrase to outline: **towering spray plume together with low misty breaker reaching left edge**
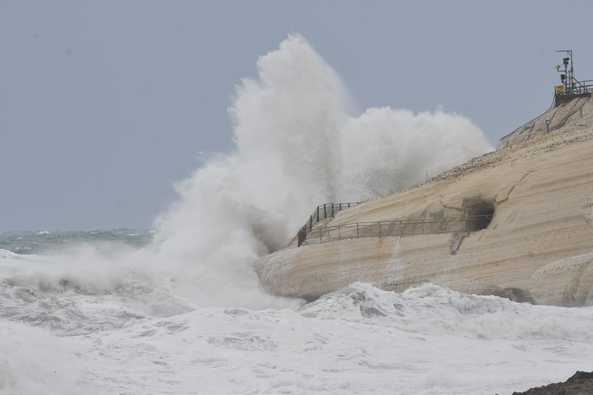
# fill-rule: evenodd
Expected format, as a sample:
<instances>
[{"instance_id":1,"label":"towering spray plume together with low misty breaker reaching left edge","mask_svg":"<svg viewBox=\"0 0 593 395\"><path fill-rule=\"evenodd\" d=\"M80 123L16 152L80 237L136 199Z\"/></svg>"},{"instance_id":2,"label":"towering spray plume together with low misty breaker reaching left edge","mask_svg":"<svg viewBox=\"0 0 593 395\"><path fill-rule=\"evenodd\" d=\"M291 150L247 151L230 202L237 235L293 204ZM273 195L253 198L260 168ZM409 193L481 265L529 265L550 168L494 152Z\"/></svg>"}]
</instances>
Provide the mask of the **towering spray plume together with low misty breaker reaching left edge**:
<instances>
[{"instance_id":1,"label":"towering spray plume together with low misty breaker reaching left edge","mask_svg":"<svg viewBox=\"0 0 593 395\"><path fill-rule=\"evenodd\" d=\"M298 307L267 295L253 262L288 243L313 207L388 194L489 150L467 118L388 107L357 115L345 85L298 35L257 60L229 114L234 149L179 182L179 201L151 245L23 264L5 284L33 293L174 294L170 311L205 306ZM36 260L36 258L31 257ZM139 314L155 314L141 309Z\"/></svg>"}]
</instances>

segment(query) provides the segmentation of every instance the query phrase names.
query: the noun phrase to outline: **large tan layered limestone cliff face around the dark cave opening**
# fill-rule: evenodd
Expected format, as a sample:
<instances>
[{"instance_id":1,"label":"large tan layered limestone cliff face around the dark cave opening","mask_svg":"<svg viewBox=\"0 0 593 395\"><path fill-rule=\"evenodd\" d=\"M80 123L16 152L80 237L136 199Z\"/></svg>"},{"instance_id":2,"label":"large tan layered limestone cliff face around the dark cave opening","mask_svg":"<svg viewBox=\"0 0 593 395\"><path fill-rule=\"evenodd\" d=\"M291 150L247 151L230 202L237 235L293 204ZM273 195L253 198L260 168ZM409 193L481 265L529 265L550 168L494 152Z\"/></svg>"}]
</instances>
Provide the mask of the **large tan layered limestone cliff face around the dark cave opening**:
<instances>
[{"instance_id":1,"label":"large tan layered limestone cliff face around the dark cave opening","mask_svg":"<svg viewBox=\"0 0 593 395\"><path fill-rule=\"evenodd\" d=\"M308 300L355 281L386 290L432 281L466 293L500 296L514 288L528 297L531 290L538 303L581 306L591 290L592 152L593 126L557 130L349 208L329 223L455 217L492 207L486 229L467 237L361 237L286 248L256 262L257 274L271 293ZM565 285L554 283L559 273Z\"/></svg>"}]
</instances>

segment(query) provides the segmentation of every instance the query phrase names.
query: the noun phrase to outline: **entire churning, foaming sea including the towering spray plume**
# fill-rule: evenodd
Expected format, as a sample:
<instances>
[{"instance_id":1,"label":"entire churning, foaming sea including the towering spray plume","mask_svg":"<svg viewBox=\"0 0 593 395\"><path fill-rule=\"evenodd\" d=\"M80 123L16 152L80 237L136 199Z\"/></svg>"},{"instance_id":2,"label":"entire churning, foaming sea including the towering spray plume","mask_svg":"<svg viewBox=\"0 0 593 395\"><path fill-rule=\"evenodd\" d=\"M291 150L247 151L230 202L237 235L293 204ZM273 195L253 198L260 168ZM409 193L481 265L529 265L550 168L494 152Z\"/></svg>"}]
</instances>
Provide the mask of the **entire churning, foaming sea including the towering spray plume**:
<instances>
[{"instance_id":1,"label":"entire churning, foaming sea including the towering spray plume","mask_svg":"<svg viewBox=\"0 0 593 395\"><path fill-rule=\"evenodd\" d=\"M591 370L591 308L433 284L309 304L262 291L254 262L317 204L490 147L461 115L357 111L300 36L257 70L229 108L235 149L205 155L154 230L0 234L0 393L502 395Z\"/></svg>"}]
</instances>

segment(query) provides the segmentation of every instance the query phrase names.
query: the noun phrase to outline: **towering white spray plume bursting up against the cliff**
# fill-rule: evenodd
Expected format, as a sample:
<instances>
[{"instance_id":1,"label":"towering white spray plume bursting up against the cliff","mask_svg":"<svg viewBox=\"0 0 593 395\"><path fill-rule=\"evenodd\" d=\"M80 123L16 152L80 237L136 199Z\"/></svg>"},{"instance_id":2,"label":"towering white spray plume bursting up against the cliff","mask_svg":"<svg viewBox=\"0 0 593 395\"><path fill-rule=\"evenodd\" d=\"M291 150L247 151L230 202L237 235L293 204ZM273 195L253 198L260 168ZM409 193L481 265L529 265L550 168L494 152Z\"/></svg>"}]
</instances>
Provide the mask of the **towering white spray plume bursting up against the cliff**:
<instances>
[{"instance_id":1,"label":"towering white spray plume bursting up against the cliff","mask_svg":"<svg viewBox=\"0 0 593 395\"><path fill-rule=\"evenodd\" d=\"M235 149L177 185L158 220L160 253L203 287L258 287L254 260L286 245L313 207L388 194L490 149L467 118L370 108L353 115L339 76L301 36L257 61L229 109ZM265 304L265 303L264 303Z\"/></svg>"}]
</instances>

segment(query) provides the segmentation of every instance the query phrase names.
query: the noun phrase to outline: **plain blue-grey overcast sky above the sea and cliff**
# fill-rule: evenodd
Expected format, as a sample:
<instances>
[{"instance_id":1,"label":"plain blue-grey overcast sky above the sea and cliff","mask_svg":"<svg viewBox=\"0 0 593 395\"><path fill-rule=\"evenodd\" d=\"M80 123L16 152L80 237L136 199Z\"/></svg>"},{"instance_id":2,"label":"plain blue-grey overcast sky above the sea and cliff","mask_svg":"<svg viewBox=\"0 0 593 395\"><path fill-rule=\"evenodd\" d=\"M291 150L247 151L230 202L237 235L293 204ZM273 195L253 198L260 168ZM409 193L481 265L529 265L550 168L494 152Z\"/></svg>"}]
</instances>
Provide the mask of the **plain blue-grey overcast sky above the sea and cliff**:
<instances>
[{"instance_id":1,"label":"plain blue-grey overcast sky above the sea and cliff","mask_svg":"<svg viewBox=\"0 0 593 395\"><path fill-rule=\"evenodd\" d=\"M593 79L590 0L0 0L0 232L150 227L289 33L360 111L442 105L493 145L550 106L555 50Z\"/></svg>"}]
</instances>

